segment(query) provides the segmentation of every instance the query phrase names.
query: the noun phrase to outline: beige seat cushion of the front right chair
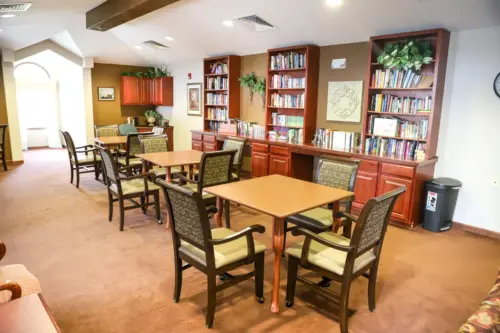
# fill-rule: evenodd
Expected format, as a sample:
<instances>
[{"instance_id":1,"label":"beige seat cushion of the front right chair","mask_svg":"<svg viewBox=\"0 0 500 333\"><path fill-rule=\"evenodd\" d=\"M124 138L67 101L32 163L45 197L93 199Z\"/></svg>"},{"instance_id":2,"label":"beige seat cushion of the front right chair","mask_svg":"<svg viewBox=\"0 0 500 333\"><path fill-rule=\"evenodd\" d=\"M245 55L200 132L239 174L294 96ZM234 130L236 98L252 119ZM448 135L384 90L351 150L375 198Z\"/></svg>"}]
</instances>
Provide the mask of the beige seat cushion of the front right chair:
<instances>
[{"instance_id":1,"label":"beige seat cushion of the front right chair","mask_svg":"<svg viewBox=\"0 0 500 333\"><path fill-rule=\"evenodd\" d=\"M350 243L349 239L330 231L322 232L318 236L339 245L349 246ZM304 241L293 244L286 250L286 253L292 257L300 258L302 256L303 244ZM344 273L346 258L347 252L332 249L315 241L311 242L308 260L313 265L335 274L342 275ZM375 260L375 255L372 250L363 253L354 261L353 272L357 272L360 268L369 264L373 260Z\"/></svg>"}]
</instances>

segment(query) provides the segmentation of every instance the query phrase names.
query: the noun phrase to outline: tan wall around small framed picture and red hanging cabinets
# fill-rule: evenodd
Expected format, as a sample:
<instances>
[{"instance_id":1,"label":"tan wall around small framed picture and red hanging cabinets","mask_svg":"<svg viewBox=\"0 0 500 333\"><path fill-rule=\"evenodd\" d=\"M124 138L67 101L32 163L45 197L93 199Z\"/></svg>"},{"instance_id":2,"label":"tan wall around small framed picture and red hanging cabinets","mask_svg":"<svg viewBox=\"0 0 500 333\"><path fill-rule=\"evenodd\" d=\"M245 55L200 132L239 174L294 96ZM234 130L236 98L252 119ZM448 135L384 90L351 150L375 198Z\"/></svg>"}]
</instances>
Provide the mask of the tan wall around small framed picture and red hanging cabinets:
<instances>
[{"instance_id":1,"label":"tan wall around small framed picture and red hanging cabinets","mask_svg":"<svg viewBox=\"0 0 500 333\"><path fill-rule=\"evenodd\" d=\"M143 116L149 106L121 106L120 80L121 72L144 72L147 67L94 64L92 76L92 105L94 108L95 125L123 124L127 117ZM97 88L115 88L114 101L99 101Z\"/></svg>"}]
</instances>

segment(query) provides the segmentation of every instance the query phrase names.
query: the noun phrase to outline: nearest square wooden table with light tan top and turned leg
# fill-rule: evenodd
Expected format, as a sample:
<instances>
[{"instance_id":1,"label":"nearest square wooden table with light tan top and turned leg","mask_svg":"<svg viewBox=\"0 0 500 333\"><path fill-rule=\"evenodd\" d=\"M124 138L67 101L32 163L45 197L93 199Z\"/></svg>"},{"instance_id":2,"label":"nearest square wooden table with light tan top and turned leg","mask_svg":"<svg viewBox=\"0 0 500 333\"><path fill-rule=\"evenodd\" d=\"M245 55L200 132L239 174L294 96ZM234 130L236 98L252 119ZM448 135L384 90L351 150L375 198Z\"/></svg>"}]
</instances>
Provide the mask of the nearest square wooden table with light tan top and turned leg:
<instances>
[{"instance_id":1,"label":"nearest square wooden table with light tan top and turned leg","mask_svg":"<svg viewBox=\"0 0 500 333\"><path fill-rule=\"evenodd\" d=\"M279 312L284 219L328 203L338 203L354 195L352 192L280 175L253 178L203 190L215 195L218 201L233 201L273 217L274 279L271 311L274 313ZM218 206L221 204L218 203ZM222 226L220 218L217 223Z\"/></svg>"}]
</instances>

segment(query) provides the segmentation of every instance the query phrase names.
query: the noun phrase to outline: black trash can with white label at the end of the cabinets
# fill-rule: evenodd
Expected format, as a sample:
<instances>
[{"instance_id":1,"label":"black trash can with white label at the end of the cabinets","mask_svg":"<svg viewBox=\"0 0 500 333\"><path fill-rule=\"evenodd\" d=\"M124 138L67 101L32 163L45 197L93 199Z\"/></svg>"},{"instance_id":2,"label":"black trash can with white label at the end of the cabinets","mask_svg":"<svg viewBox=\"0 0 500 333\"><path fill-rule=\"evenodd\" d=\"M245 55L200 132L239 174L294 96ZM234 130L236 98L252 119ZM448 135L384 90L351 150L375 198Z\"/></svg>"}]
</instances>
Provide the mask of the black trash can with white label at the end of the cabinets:
<instances>
[{"instance_id":1,"label":"black trash can with white label at the end of the cabinets","mask_svg":"<svg viewBox=\"0 0 500 333\"><path fill-rule=\"evenodd\" d=\"M424 185L424 228L432 232L451 228L462 182L452 178L435 178Z\"/></svg>"}]
</instances>

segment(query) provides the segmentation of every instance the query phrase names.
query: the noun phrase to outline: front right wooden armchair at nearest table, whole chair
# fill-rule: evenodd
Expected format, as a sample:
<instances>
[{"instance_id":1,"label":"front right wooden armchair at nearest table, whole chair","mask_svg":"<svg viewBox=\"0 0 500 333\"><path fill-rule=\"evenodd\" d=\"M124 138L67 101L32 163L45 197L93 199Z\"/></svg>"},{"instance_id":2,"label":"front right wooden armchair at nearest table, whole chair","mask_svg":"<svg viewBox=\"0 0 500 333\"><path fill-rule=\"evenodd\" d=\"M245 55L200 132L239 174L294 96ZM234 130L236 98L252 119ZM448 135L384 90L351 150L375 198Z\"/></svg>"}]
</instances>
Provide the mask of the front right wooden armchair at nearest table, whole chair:
<instances>
[{"instance_id":1,"label":"front right wooden armchair at nearest table, whole chair","mask_svg":"<svg viewBox=\"0 0 500 333\"><path fill-rule=\"evenodd\" d=\"M363 275L369 279L368 306L370 311L374 311L377 270L385 232L394 204L398 196L405 191L406 188L401 187L368 200L358 219L343 212L343 217L356 222L351 239L331 231L315 234L303 228L294 229L292 231L294 236L303 235L305 239L286 250L288 254L286 306L293 306L295 285L297 281L300 281L339 304L340 331L347 333L351 282ZM339 282L341 284L340 295L298 276L299 266ZM369 274L366 273L368 271Z\"/></svg>"}]
</instances>

